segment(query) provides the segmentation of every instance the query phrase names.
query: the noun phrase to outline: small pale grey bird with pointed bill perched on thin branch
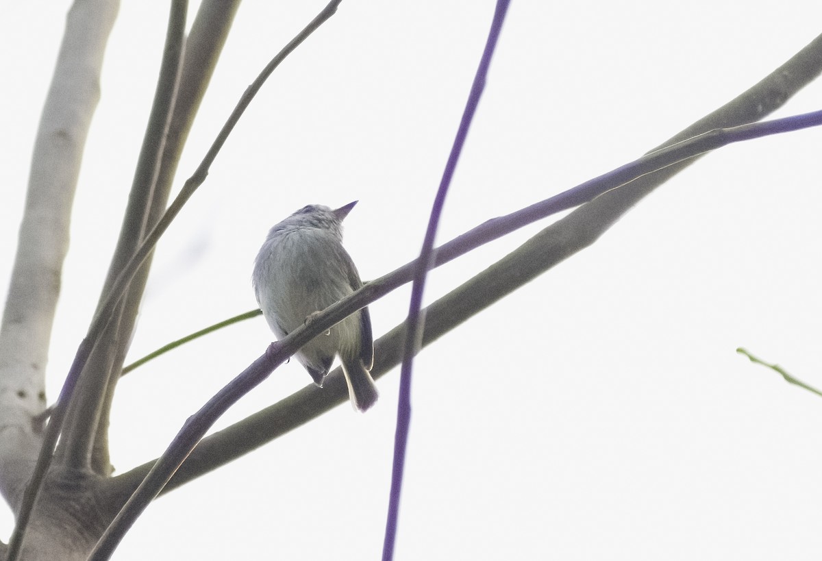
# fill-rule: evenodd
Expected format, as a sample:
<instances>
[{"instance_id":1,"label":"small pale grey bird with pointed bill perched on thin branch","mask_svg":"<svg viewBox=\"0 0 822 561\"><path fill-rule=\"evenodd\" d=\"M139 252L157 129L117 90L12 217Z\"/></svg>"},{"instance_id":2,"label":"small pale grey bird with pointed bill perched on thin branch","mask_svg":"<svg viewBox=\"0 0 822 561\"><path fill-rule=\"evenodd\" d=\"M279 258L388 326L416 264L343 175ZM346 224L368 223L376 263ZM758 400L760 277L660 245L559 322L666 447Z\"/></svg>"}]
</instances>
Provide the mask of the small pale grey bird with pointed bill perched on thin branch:
<instances>
[{"instance_id":1,"label":"small pale grey bird with pointed bill perched on thin branch","mask_svg":"<svg viewBox=\"0 0 822 561\"><path fill-rule=\"evenodd\" d=\"M356 204L350 202L336 210L303 206L270 229L256 257L252 281L257 302L278 339L363 286L343 248L343 219ZM343 364L352 405L367 410L377 398L369 373L374 342L368 308L308 341L296 354L320 387L334 355Z\"/></svg>"}]
</instances>

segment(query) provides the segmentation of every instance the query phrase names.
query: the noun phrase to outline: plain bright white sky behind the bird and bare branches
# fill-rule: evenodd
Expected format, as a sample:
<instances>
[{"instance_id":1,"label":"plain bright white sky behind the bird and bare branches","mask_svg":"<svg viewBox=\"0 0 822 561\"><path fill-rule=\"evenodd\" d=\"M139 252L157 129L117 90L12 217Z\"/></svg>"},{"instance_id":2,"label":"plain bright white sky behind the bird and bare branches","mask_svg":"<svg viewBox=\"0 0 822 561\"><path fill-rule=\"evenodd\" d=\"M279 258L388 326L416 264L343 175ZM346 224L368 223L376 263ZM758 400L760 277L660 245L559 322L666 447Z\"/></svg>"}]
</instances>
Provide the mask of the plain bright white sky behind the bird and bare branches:
<instances>
[{"instance_id":1,"label":"plain bright white sky behind the bird and bare branches","mask_svg":"<svg viewBox=\"0 0 822 561\"><path fill-rule=\"evenodd\" d=\"M324 2L246 2L178 172L195 169L263 65ZM560 6L559 4L563 4ZM634 159L822 32L815 2L513 2L439 240ZM0 279L69 2L0 21ZM192 7L192 17L196 7ZM742 12L746 10L746 12ZM166 2L122 4L90 133L50 353L57 395L118 234L159 67ZM267 229L360 203L363 278L423 239L493 2L344 2L270 78L161 242L132 359L256 306ZM817 83L779 115L822 109ZM709 155L593 248L423 351L396 559L818 559L822 131ZM434 272L427 301L547 221ZM372 305L375 334L408 287ZM127 471L270 341L264 320L130 374L112 421ZM159 499L114 559L378 559L399 369L367 415L329 415ZM219 427L309 383L293 361ZM7 539L12 519L0 518Z\"/></svg>"}]
</instances>

